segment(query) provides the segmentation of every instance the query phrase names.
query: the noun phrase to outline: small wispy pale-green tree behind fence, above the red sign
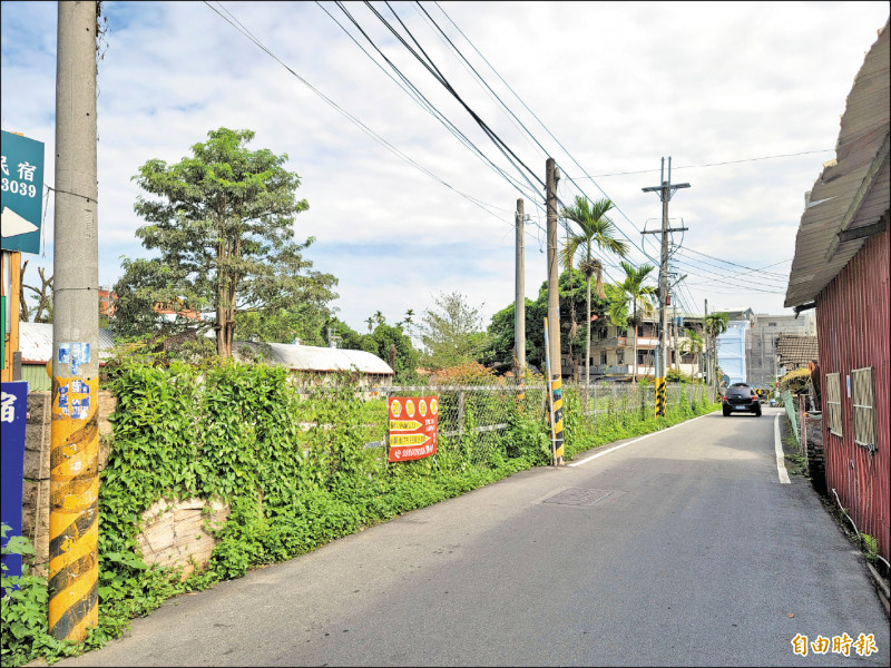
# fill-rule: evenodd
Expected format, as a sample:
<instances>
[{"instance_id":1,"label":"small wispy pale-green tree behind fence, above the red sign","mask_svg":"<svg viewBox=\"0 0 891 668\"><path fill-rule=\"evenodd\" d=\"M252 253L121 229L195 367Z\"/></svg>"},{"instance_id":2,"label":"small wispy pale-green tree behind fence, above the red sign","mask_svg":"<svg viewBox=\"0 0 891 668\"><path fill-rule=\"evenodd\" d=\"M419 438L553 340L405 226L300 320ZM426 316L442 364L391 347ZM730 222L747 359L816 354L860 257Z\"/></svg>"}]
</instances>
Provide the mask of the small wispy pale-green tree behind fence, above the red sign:
<instances>
[{"instance_id":1,"label":"small wispy pale-green tree behind fence, above the red sign","mask_svg":"<svg viewBox=\"0 0 891 668\"><path fill-rule=\"evenodd\" d=\"M479 307L458 292L440 293L433 302L435 306L424 310L419 325L424 364L446 369L476 361L487 347Z\"/></svg>"}]
</instances>

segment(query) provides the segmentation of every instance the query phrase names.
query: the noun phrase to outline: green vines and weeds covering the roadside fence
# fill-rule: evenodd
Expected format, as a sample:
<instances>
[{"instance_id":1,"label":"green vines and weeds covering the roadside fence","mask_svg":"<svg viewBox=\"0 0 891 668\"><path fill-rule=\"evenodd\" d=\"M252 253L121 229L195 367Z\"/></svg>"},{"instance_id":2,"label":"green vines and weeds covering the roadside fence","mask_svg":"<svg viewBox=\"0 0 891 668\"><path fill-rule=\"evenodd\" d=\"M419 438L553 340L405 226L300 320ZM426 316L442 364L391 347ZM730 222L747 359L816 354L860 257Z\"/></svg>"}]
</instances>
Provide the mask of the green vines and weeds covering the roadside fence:
<instances>
[{"instance_id":1,"label":"green vines and weeds covering the roadside fence","mask_svg":"<svg viewBox=\"0 0 891 668\"><path fill-rule=\"evenodd\" d=\"M99 498L99 625L79 646L55 640L46 579L4 576L3 588L18 589L3 605L2 665L101 647L172 596L550 463L544 381L450 382L371 391L343 377L309 389L263 364L124 358L108 387L117 405ZM644 385L567 387L567 460L718 407L703 386L681 384L656 420L652 394ZM386 461L391 396L437 397L434 455ZM28 541L9 546L32 556Z\"/></svg>"}]
</instances>

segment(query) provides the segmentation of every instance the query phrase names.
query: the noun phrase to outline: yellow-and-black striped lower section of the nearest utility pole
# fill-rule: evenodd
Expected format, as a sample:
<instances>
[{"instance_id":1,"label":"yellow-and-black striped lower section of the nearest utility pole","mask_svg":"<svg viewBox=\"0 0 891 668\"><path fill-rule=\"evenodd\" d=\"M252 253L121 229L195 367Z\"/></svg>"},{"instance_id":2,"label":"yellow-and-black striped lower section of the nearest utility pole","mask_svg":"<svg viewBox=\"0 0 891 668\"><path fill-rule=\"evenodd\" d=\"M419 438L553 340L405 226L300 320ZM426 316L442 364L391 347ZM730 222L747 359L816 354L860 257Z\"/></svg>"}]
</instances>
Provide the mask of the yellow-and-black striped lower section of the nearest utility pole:
<instances>
[{"instance_id":1,"label":"yellow-and-black striped lower section of the nearest utility pole","mask_svg":"<svg viewBox=\"0 0 891 668\"><path fill-rule=\"evenodd\" d=\"M80 641L99 621L98 379L52 379L49 631Z\"/></svg>"}]
</instances>

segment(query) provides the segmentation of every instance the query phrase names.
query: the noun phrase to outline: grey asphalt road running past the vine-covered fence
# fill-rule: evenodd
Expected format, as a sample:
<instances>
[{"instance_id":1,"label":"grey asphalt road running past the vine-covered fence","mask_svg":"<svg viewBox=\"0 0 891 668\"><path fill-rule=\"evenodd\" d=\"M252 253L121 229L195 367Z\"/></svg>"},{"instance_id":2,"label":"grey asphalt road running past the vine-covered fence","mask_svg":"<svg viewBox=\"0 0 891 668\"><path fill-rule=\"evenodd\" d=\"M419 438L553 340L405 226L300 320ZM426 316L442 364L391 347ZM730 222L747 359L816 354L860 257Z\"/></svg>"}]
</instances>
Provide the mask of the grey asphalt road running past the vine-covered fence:
<instances>
[{"instance_id":1,"label":"grey asphalt road running past the vine-covered fence","mask_svg":"<svg viewBox=\"0 0 891 668\"><path fill-rule=\"evenodd\" d=\"M780 410L713 413L167 601L59 666L888 666L862 557ZM621 443L620 443L621 444ZM848 633L858 656L793 654Z\"/></svg>"}]
</instances>

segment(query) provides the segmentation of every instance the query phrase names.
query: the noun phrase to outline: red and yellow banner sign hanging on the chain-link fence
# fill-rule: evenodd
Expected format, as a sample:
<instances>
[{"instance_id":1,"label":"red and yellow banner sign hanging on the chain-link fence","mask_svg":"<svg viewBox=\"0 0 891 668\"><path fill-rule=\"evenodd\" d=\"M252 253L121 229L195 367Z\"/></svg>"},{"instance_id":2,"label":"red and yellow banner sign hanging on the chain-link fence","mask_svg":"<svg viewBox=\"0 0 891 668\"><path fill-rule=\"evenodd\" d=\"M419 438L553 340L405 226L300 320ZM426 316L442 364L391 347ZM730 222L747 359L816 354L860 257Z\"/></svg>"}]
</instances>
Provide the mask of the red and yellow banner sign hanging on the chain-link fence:
<instances>
[{"instance_id":1,"label":"red and yellow banner sign hanging on the chain-link fence","mask_svg":"<svg viewBox=\"0 0 891 668\"><path fill-rule=\"evenodd\" d=\"M391 396L388 461L404 462L437 453L439 400L435 396Z\"/></svg>"}]
</instances>

